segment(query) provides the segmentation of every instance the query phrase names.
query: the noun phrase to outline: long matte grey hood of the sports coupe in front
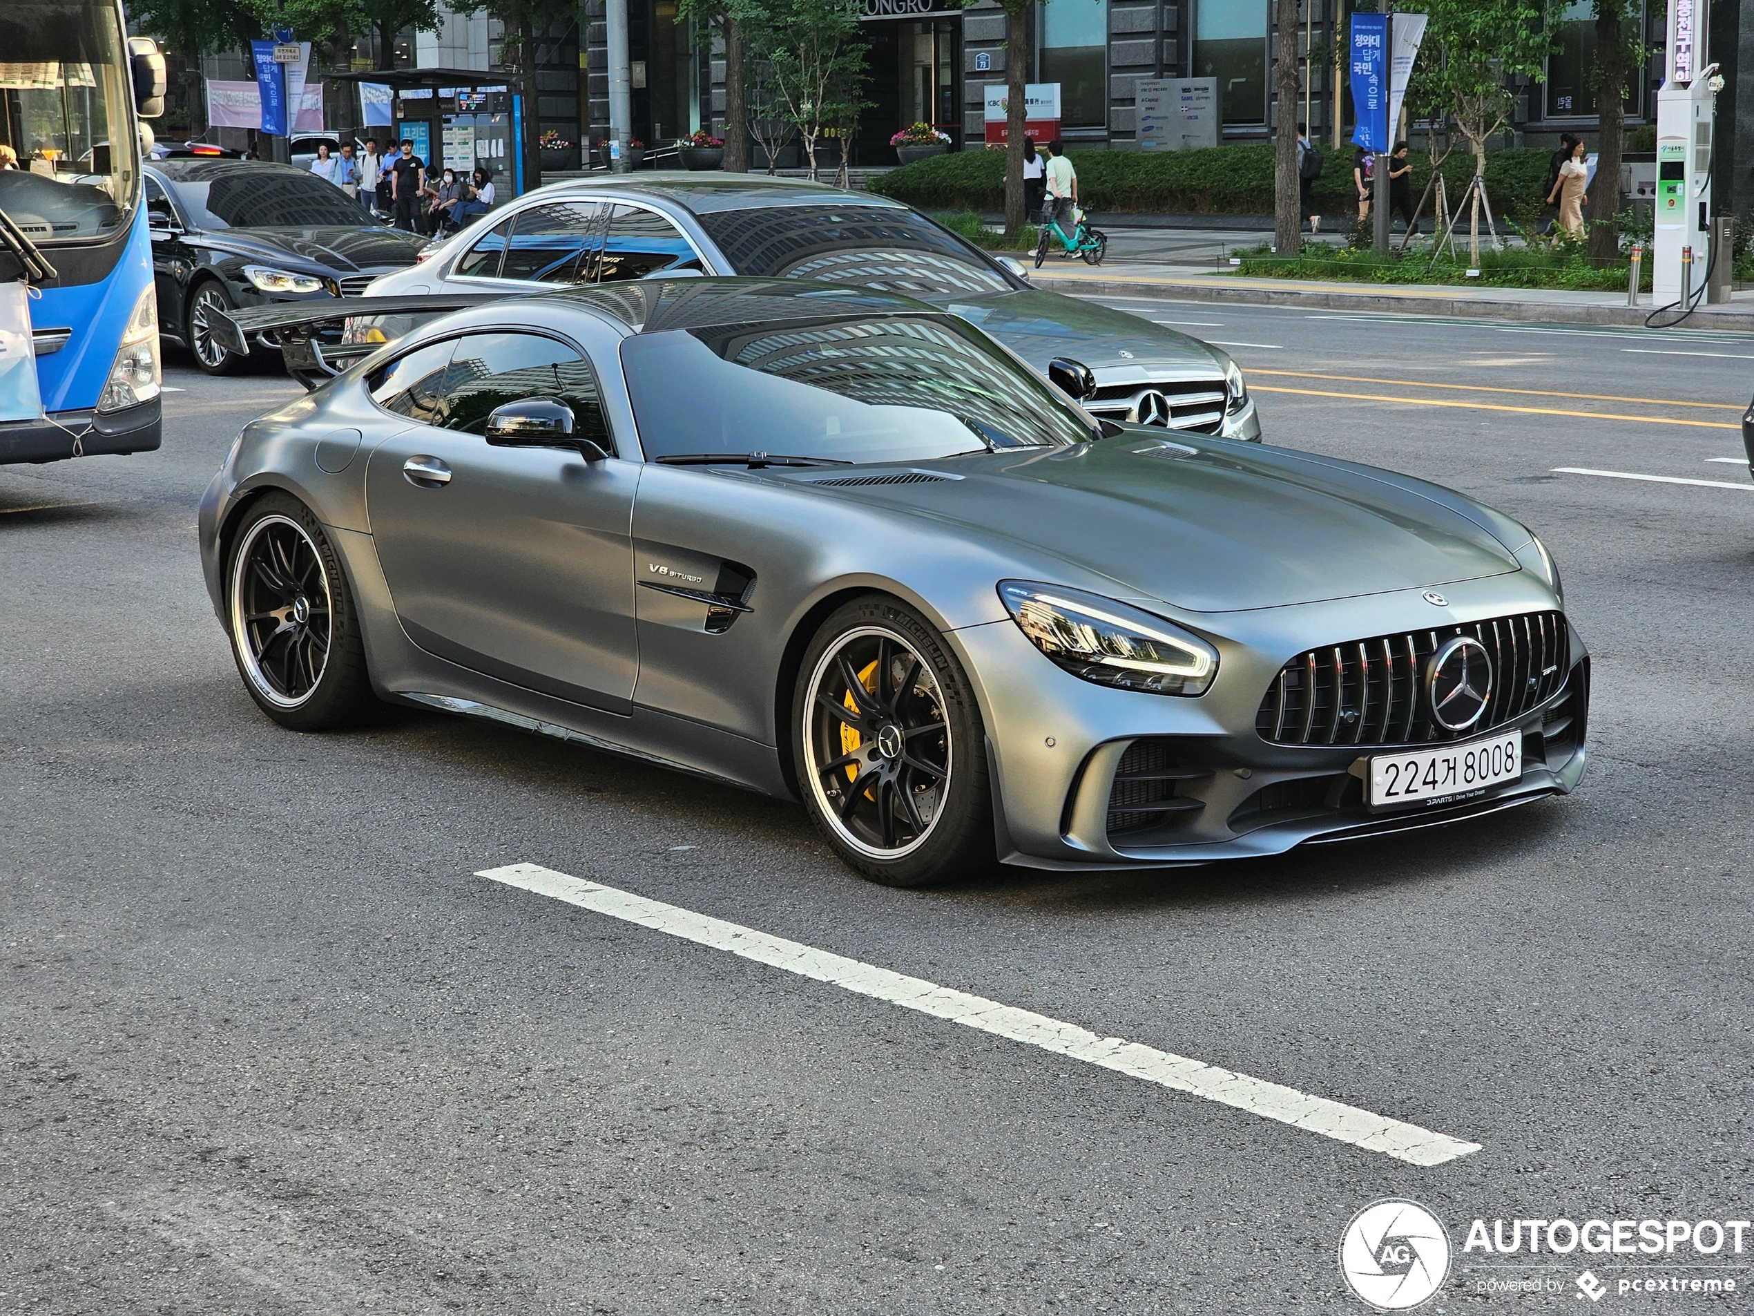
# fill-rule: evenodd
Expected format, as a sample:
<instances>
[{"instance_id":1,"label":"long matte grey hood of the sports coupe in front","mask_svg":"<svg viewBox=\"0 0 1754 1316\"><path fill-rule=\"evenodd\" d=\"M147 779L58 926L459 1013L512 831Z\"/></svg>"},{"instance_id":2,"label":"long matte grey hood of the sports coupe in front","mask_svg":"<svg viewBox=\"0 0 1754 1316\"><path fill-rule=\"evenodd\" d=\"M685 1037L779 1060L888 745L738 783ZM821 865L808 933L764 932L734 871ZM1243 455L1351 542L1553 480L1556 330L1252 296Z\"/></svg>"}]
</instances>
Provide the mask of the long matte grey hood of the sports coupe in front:
<instances>
[{"instance_id":1,"label":"long matte grey hood of the sports coupe in front","mask_svg":"<svg viewBox=\"0 0 1754 1316\"><path fill-rule=\"evenodd\" d=\"M1528 532L1451 490L1282 447L1147 433L928 461L914 470L961 479L833 493L1028 544L1117 581L1112 593L1191 612L1519 570L1514 549Z\"/></svg>"}]
</instances>

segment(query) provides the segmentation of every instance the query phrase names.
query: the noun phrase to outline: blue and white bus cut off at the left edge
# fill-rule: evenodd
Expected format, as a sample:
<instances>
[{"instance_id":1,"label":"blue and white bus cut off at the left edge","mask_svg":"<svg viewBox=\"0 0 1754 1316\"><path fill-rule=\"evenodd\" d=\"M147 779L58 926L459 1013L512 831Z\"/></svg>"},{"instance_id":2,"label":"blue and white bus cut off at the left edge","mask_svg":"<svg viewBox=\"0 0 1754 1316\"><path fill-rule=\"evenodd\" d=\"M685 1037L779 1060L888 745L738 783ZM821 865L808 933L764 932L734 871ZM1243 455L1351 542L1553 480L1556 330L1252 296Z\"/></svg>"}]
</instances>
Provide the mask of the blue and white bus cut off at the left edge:
<instances>
[{"instance_id":1,"label":"blue and white bus cut off at the left edge","mask_svg":"<svg viewBox=\"0 0 1754 1316\"><path fill-rule=\"evenodd\" d=\"M0 0L0 283L30 286L42 398L0 421L0 463L158 447L140 119L163 95L165 61L130 40L119 0Z\"/></svg>"}]
</instances>

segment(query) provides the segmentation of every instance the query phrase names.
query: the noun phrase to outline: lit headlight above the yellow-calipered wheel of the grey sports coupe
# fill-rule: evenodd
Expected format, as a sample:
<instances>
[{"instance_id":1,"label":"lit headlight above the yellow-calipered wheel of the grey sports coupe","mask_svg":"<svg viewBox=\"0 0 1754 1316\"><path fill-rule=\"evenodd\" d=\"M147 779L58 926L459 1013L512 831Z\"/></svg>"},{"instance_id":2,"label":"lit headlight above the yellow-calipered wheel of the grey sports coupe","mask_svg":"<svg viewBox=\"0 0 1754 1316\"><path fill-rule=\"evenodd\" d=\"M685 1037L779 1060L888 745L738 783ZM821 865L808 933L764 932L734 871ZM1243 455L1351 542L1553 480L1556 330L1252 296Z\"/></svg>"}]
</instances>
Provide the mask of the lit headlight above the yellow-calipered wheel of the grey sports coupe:
<instances>
[{"instance_id":1,"label":"lit headlight above the yellow-calipered wheel of the grey sports coupe","mask_svg":"<svg viewBox=\"0 0 1754 1316\"><path fill-rule=\"evenodd\" d=\"M1217 649L1128 604L1030 581L1000 581L998 597L1037 649L1084 681L1203 695L1217 676Z\"/></svg>"}]
</instances>

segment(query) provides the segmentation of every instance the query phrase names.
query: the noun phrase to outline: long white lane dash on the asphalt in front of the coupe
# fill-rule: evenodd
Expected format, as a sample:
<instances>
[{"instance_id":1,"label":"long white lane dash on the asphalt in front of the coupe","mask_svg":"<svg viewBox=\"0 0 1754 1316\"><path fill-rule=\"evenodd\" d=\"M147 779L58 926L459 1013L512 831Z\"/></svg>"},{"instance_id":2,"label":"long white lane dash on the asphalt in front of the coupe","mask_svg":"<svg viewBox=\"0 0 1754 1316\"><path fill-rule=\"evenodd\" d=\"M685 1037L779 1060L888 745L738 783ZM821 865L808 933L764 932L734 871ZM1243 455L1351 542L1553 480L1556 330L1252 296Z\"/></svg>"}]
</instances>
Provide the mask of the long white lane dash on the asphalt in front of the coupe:
<instances>
[{"instance_id":1,"label":"long white lane dash on the asphalt in front of the coupe","mask_svg":"<svg viewBox=\"0 0 1754 1316\"><path fill-rule=\"evenodd\" d=\"M475 876L563 900L568 905L607 914L609 918L638 923L644 928L665 932L698 946L730 951L756 963L812 977L817 983L831 983L847 991L886 1000L902 1009L919 1011L921 1014L961 1023L995 1037L1005 1037L1059 1056L1112 1069L1117 1074L1128 1074L1173 1091L1205 1097L1207 1100L1258 1114L1263 1119L1277 1119L1293 1128L1331 1137L1337 1142L1349 1142L1366 1151L1380 1151L1384 1156L1394 1156L1412 1165L1442 1165L1444 1162L1480 1149L1479 1142L1463 1142L1461 1139L1433 1134L1417 1125L1359 1111L1356 1105L1342 1105L1326 1097L1310 1097L1296 1088L1286 1088L1279 1083L1237 1074L1235 1070L1207 1065L1200 1060L1158 1051L1156 1048L1128 1042L1121 1037L1102 1037L1073 1023L1051 1019L1045 1014L1023 1011L1016 1005L1002 1005L996 1000L986 1000L984 997L928 983L923 977L909 977L891 969L849 960L831 951L819 951L814 946L803 946L784 937L770 937L754 928L696 914L691 909L667 905L614 886L589 883L582 877L572 877L570 874L554 872L535 863L510 863L502 869L486 869Z\"/></svg>"}]
</instances>

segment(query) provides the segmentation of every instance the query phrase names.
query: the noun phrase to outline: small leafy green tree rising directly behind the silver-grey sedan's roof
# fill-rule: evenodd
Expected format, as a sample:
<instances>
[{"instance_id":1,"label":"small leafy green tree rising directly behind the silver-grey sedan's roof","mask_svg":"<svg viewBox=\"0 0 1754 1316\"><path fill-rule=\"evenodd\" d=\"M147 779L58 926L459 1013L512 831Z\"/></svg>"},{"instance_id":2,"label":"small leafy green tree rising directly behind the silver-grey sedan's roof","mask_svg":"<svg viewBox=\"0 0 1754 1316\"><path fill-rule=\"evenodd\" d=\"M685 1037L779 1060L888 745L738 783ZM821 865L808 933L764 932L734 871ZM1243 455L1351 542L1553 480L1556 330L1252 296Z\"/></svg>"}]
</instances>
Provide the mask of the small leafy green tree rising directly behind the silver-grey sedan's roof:
<instances>
[{"instance_id":1,"label":"small leafy green tree rising directly behind the silver-grey sedan's roof","mask_svg":"<svg viewBox=\"0 0 1754 1316\"><path fill-rule=\"evenodd\" d=\"M870 47L859 35L858 0L781 0L758 51L768 63L775 104L798 130L814 181L817 142L847 121L847 107L859 102L866 79Z\"/></svg>"}]
</instances>

